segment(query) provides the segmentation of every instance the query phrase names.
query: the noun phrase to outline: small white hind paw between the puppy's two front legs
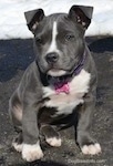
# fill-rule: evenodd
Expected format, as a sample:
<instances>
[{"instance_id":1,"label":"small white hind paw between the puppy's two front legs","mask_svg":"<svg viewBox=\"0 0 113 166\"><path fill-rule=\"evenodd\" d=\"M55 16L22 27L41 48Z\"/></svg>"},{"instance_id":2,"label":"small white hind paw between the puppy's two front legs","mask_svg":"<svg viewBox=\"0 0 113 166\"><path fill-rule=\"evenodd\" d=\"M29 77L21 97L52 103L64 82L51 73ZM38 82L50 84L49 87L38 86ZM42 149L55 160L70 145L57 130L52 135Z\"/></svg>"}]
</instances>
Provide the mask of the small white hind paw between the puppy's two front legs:
<instances>
[{"instance_id":1,"label":"small white hind paw between the puppy's two front legs","mask_svg":"<svg viewBox=\"0 0 113 166\"><path fill-rule=\"evenodd\" d=\"M55 147L61 146L61 142L62 142L61 138L56 138L56 137L47 138L45 141L51 146L55 146Z\"/></svg>"}]
</instances>

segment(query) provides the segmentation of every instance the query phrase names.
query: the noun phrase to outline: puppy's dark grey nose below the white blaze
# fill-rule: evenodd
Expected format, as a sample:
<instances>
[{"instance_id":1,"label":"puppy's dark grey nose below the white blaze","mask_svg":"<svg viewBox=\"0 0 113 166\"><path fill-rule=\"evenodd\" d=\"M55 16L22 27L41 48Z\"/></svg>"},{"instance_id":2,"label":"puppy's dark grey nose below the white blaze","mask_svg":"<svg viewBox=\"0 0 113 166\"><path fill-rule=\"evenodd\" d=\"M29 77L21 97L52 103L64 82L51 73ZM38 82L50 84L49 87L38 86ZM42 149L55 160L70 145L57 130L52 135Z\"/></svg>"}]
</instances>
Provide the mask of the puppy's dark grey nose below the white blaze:
<instances>
[{"instance_id":1,"label":"puppy's dark grey nose below the white blaze","mask_svg":"<svg viewBox=\"0 0 113 166\"><path fill-rule=\"evenodd\" d=\"M45 60L48 63L55 63L59 60L59 54L55 52L48 53Z\"/></svg>"}]
</instances>

